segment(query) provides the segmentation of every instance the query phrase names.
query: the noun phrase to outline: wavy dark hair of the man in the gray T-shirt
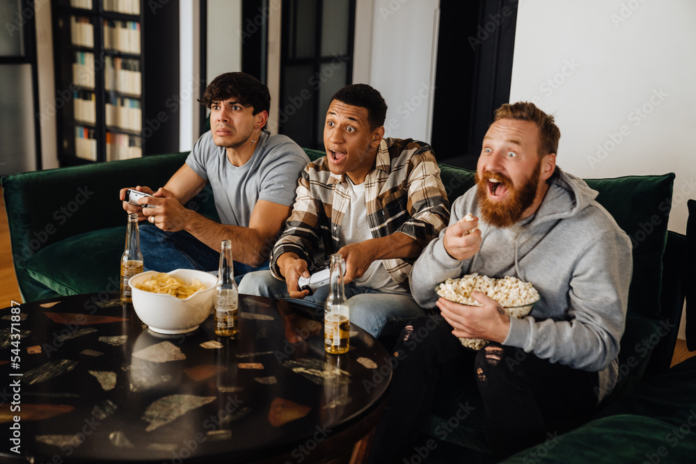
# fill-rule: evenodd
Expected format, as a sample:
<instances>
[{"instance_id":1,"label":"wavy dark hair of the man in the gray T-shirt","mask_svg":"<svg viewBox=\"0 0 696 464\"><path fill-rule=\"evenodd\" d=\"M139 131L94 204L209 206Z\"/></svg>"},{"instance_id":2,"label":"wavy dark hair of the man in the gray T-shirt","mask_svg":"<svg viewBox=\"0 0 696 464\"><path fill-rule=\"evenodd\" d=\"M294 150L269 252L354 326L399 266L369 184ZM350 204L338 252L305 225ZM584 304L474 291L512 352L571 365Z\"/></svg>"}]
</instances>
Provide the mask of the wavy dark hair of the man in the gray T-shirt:
<instances>
[{"instance_id":1,"label":"wavy dark hair of the man in the gray T-shirt","mask_svg":"<svg viewBox=\"0 0 696 464\"><path fill-rule=\"evenodd\" d=\"M200 104L208 108L213 102L223 102L235 98L244 106L253 108L253 115L271 110L271 93L255 77L246 72L226 72L213 79L205 88Z\"/></svg>"}]
</instances>

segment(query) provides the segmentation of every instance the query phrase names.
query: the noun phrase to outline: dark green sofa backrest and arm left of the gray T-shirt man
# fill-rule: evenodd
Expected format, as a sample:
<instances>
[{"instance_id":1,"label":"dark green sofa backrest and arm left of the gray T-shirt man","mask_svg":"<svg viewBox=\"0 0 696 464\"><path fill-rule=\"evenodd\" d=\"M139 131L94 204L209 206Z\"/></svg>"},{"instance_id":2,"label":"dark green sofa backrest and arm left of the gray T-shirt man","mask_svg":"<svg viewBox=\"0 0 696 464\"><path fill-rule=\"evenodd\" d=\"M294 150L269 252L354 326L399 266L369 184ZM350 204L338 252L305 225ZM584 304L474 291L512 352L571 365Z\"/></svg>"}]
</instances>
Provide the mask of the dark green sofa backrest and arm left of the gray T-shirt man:
<instances>
[{"instance_id":1,"label":"dark green sofa backrest and arm left of the gray T-shirt man","mask_svg":"<svg viewBox=\"0 0 696 464\"><path fill-rule=\"evenodd\" d=\"M15 267L52 243L125 224L119 189L163 186L186 156L165 154L3 177Z\"/></svg>"}]
</instances>

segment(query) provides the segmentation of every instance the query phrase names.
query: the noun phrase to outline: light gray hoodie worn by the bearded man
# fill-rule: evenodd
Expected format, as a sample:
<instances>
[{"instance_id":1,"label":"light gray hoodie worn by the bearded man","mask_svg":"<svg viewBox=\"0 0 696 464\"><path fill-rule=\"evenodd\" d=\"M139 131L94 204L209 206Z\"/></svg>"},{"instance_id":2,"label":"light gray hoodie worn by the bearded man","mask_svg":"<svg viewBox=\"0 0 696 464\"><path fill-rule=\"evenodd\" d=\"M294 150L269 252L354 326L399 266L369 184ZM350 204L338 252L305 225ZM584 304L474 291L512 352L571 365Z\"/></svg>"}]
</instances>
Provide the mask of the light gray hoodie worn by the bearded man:
<instances>
[{"instance_id":1,"label":"light gray hoodie worn by the bearded man","mask_svg":"<svg viewBox=\"0 0 696 464\"><path fill-rule=\"evenodd\" d=\"M459 261L445 251L442 230L414 264L411 292L423 307L434 307L434 287L448 278L476 272L531 282L541 300L528 317L510 319L503 344L599 371L602 399L617 380L633 269L631 241L583 179L556 168L548 182L537 212L512 227L494 227L480 218L481 250L470 259ZM467 213L479 216L475 187L454 201L450 225Z\"/></svg>"}]
</instances>

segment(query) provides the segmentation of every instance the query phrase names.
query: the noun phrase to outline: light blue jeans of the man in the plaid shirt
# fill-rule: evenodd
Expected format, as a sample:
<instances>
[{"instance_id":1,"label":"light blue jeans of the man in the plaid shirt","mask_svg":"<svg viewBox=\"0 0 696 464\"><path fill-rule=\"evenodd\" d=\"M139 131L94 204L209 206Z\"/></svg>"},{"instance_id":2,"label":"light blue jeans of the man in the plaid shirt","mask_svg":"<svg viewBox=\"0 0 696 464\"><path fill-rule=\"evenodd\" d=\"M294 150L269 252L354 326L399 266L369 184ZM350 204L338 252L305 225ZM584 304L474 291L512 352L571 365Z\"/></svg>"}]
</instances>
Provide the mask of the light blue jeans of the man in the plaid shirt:
<instances>
[{"instance_id":1,"label":"light blue jeans of the man in the plaid shirt","mask_svg":"<svg viewBox=\"0 0 696 464\"><path fill-rule=\"evenodd\" d=\"M397 335L404 323L428 314L410 295L386 294L370 287L345 285L350 307L350 321L373 337ZM271 271L248 273L239 284L239 293L293 301L315 308L317 317L324 314L329 285L318 288L302 299L290 298L285 280L274 278Z\"/></svg>"}]
</instances>

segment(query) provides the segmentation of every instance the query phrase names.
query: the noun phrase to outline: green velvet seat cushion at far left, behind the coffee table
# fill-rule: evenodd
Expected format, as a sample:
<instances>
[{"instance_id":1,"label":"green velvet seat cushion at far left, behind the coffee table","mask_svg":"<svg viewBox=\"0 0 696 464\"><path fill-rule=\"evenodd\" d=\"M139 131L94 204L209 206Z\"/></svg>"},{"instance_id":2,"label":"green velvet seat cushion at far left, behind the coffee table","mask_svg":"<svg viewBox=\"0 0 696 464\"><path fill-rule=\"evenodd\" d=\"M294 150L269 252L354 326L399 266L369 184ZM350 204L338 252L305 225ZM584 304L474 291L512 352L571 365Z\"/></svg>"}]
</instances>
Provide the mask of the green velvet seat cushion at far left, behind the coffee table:
<instances>
[{"instance_id":1,"label":"green velvet seat cushion at far left, behind the coffee table","mask_svg":"<svg viewBox=\"0 0 696 464\"><path fill-rule=\"evenodd\" d=\"M125 237L125 225L75 235L42 248L19 267L60 295L116 291Z\"/></svg>"}]
</instances>

